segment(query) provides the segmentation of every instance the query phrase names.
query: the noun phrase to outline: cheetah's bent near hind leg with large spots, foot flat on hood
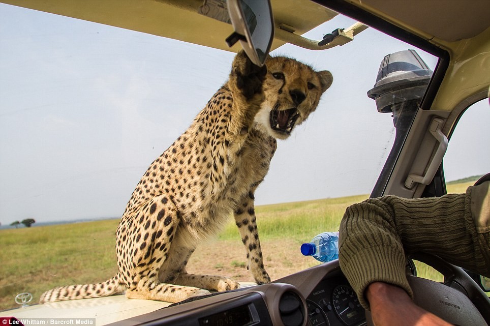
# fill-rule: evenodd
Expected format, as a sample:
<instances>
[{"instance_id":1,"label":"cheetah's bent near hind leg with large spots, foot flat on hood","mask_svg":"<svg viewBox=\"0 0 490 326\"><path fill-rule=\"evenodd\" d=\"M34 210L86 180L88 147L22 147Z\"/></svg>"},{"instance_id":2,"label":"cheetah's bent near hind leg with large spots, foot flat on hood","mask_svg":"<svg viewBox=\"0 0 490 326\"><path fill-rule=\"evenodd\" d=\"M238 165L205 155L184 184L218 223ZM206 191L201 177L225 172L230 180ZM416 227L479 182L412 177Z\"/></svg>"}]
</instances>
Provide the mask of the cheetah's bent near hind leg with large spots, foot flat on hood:
<instances>
[{"instance_id":1,"label":"cheetah's bent near hind leg with large spots, foot flat on hood","mask_svg":"<svg viewBox=\"0 0 490 326\"><path fill-rule=\"evenodd\" d=\"M166 195L150 199L135 213L134 224L139 224L140 234L125 252L133 252L130 280L126 297L129 299L179 302L209 291L195 287L162 283L159 271L166 268L171 243L179 224L177 209Z\"/></svg>"}]
</instances>

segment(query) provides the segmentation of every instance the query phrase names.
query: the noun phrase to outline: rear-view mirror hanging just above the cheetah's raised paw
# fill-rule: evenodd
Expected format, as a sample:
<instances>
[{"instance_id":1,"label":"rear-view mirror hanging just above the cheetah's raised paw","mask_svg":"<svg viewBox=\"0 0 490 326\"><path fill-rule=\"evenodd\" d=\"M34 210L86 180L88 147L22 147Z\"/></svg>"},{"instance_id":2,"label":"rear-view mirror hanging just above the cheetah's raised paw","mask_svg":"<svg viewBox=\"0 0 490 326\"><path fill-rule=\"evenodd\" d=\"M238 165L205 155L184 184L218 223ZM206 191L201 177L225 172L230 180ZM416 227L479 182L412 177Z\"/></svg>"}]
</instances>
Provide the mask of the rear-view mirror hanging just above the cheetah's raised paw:
<instances>
[{"instance_id":1,"label":"rear-view mirror hanging just above the cheetah's raised paw","mask_svg":"<svg viewBox=\"0 0 490 326\"><path fill-rule=\"evenodd\" d=\"M262 67L274 39L270 0L228 0L228 13L235 32L226 43L231 47L240 41L250 60Z\"/></svg>"}]
</instances>

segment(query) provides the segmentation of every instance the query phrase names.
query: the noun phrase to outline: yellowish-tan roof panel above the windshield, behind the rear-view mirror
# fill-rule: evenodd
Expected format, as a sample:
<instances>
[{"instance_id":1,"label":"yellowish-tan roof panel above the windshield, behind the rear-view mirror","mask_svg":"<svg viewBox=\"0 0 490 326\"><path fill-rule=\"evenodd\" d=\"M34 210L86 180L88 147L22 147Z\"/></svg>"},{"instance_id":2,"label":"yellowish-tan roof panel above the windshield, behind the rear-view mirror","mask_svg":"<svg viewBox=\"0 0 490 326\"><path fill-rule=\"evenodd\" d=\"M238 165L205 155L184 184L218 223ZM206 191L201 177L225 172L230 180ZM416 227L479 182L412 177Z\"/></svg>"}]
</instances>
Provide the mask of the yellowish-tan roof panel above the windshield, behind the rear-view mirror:
<instances>
[{"instance_id":1,"label":"yellowish-tan roof panel above the windshield, behind the rear-view mirror","mask_svg":"<svg viewBox=\"0 0 490 326\"><path fill-rule=\"evenodd\" d=\"M217 3L218 6L214 7L217 8L223 0L207 1L208 5ZM206 3L204 0L0 0L0 3L221 50L237 52L241 49L239 43L229 48L225 42L233 33L231 24L210 18L211 14L205 16L199 13ZM302 35L337 15L310 0L271 0L271 4L275 25L285 24L295 35ZM285 43L275 38L271 50Z\"/></svg>"}]
</instances>

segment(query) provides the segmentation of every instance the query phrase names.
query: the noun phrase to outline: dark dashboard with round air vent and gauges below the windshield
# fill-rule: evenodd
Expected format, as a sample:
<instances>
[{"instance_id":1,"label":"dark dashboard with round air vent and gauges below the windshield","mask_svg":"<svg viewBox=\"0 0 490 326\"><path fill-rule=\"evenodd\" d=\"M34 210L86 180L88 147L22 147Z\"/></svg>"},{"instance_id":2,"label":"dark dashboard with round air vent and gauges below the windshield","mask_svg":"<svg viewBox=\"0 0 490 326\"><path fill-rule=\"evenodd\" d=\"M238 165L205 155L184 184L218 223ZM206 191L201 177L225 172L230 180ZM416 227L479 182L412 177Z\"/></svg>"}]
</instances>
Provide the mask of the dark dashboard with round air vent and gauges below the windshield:
<instances>
[{"instance_id":1,"label":"dark dashboard with round air vent and gauges below the windshield","mask_svg":"<svg viewBox=\"0 0 490 326\"><path fill-rule=\"evenodd\" d=\"M269 284L216 292L113 326L363 326L364 308L338 260Z\"/></svg>"}]
</instances>

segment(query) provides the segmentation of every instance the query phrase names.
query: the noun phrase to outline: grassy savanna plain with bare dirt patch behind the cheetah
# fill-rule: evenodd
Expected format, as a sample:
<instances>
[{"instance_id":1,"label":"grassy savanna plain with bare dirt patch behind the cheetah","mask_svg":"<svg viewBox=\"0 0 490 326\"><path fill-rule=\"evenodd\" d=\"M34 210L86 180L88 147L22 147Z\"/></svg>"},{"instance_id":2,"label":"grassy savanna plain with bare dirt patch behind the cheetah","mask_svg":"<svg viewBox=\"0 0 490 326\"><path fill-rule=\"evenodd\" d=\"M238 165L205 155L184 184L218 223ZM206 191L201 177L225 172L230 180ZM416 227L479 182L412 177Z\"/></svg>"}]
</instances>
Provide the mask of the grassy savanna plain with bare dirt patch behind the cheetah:
<instances>
[{"instance_id":1,"label":"grassy savanna plain with bare dirt patch behind the cheetah","mask_svg":"<svg viewBox=\"0 0 490 326\"><path fill-rule=\"evenodd\" d=\"M473 182L448 186L464 192ZM315 264L299 246L316 234L338 230L348 205L367 195L258 206L257 223L264 264L272 279ZM0 310L17 307L17 293L36 300L52 287L105 281L117 272L115 230L118 220L0 230ZM189 272L226 275L253 281L246 270L245 250L232 219L218 239L203 244L189 262ZM441 276L418 264L419 276Z\"/></svg>"}]
</instances>

